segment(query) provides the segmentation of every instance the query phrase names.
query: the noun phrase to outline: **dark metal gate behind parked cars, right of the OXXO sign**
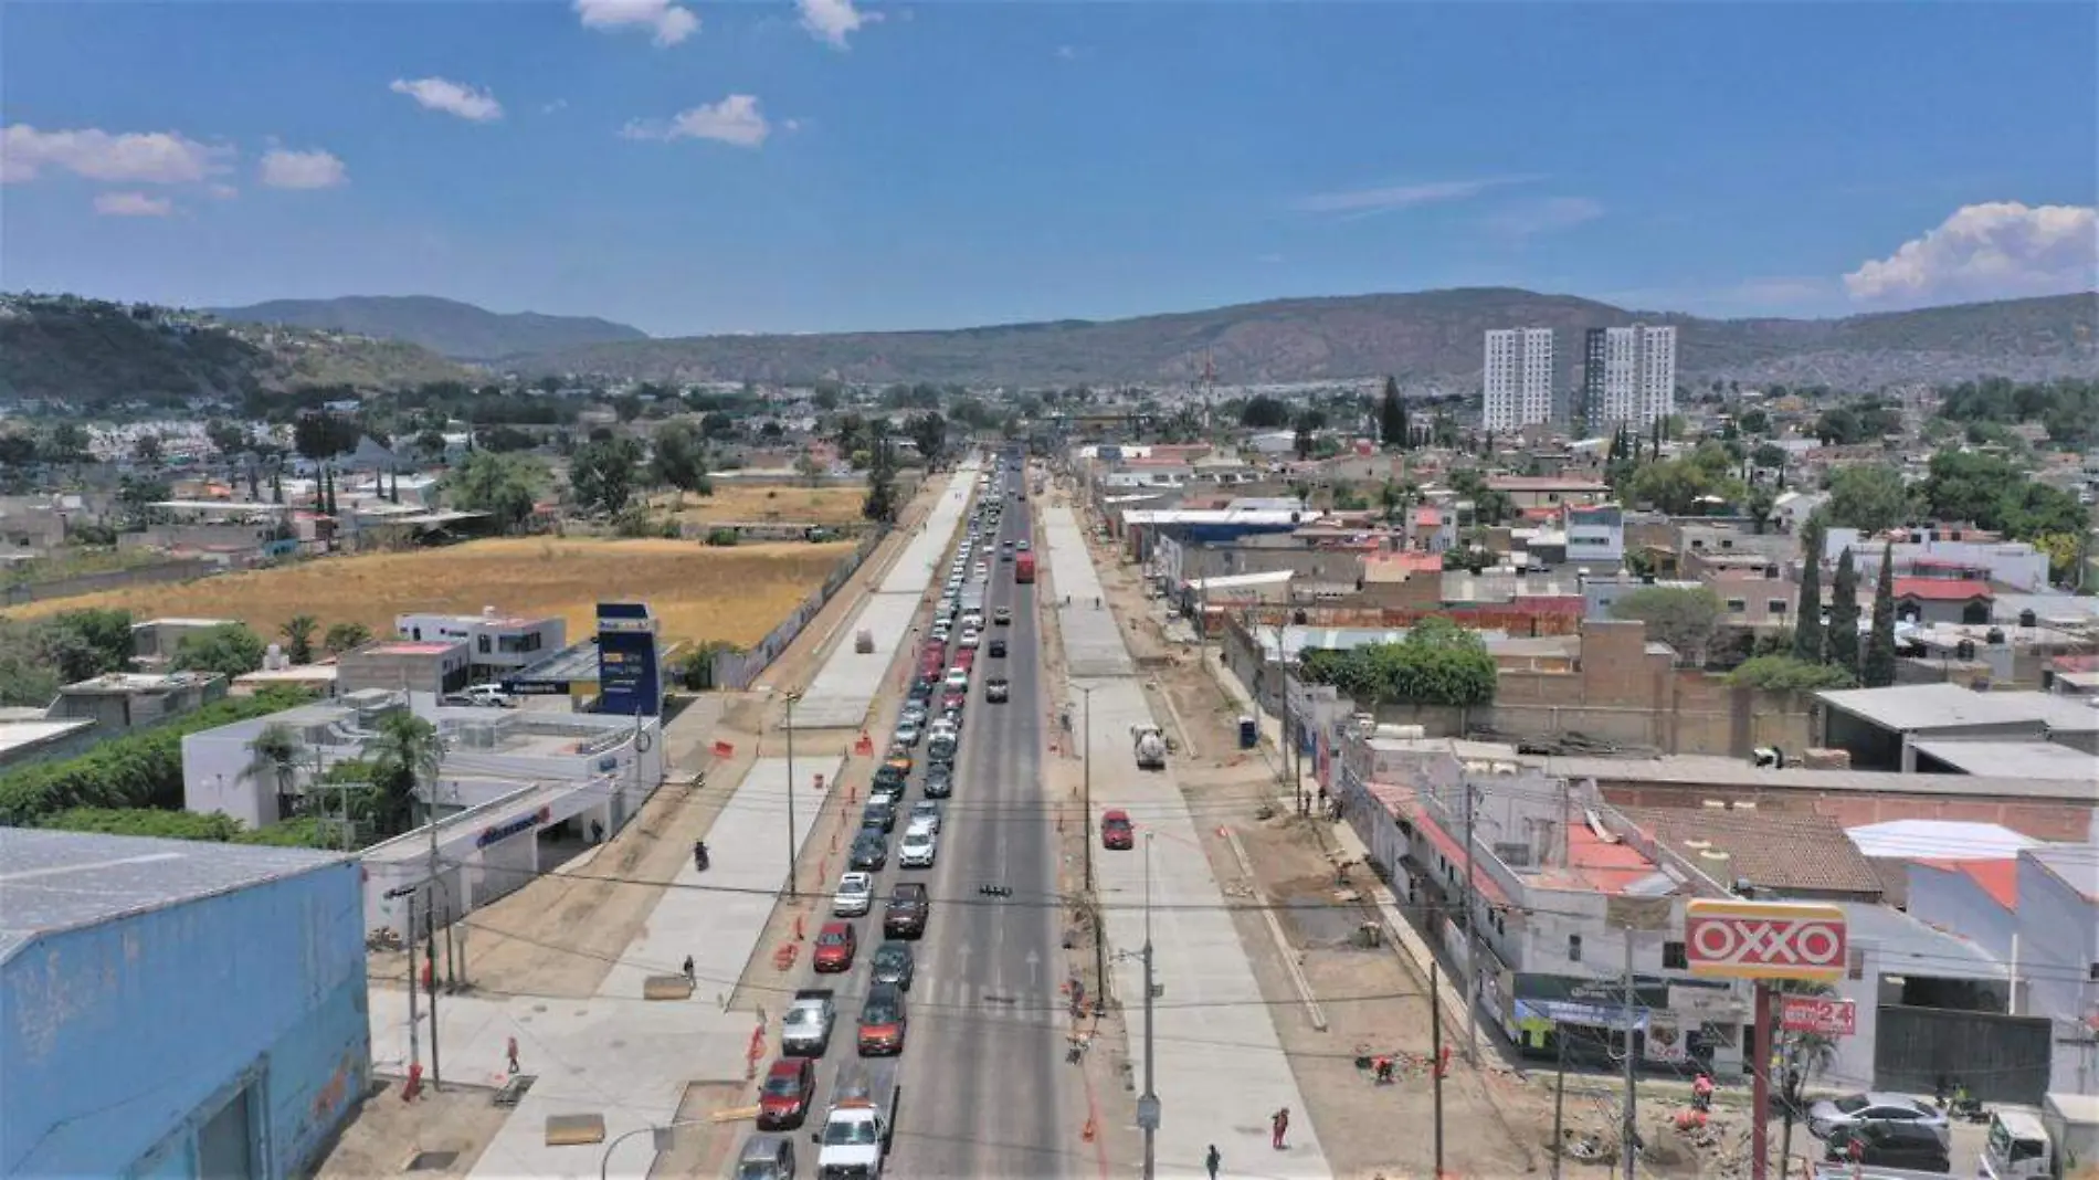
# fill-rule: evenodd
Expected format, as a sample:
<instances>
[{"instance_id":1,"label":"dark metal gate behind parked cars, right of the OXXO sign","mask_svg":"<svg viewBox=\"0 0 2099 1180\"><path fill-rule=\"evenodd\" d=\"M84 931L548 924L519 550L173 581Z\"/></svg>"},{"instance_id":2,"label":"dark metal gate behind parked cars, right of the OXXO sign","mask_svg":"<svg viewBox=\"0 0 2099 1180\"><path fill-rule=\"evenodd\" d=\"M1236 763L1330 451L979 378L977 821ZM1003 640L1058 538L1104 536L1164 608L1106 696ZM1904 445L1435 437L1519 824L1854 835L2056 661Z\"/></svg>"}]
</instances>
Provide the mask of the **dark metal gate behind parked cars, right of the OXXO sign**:
<instances>
[{"instance_id":1,"label":"dark metal gate behind parked cars, right of the OXXO sign","mask_svg":"<svg viewBox=\"0 0 2099 1180\"><path fill-rule=\"evenodd\" d=\"M1883 1004L1874 1029L1877 1090L1931 1094L1939 1081L1971 1098L2038 1107L2049 1092L2055 1029L2047 1016Z\"/></svg>"}]
</instances>

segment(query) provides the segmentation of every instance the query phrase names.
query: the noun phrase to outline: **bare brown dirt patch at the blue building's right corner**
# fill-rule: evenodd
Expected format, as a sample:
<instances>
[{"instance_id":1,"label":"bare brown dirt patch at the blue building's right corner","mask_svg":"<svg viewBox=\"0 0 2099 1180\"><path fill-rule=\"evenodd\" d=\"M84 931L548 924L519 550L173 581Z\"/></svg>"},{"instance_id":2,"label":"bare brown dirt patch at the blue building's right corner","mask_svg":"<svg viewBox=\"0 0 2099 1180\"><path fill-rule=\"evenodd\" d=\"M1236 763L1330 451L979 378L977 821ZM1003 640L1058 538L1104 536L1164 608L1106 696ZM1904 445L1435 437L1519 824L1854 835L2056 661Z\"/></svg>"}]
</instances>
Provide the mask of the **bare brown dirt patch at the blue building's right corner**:
<instances>
[{"instance_id":1,"label":"bare brown dirt patch at the blue building's right corner","mask_svg":"<svg viewBox=\"0 0 2099 1180\"><path fill-rule=\"evenodd\" d=\"M403 1102L399 1081L380 1081L344 1123L315 1178L466 1176L510 1117L510 1111L489 1100L493 1094L481 1086L447 1083L443 1090L424 1090L416 1102ZM424 1153L453 1153L453 1157L443 1165L426 1157L426 1167L407 1172Z\"/></svg>"}]
</instances>

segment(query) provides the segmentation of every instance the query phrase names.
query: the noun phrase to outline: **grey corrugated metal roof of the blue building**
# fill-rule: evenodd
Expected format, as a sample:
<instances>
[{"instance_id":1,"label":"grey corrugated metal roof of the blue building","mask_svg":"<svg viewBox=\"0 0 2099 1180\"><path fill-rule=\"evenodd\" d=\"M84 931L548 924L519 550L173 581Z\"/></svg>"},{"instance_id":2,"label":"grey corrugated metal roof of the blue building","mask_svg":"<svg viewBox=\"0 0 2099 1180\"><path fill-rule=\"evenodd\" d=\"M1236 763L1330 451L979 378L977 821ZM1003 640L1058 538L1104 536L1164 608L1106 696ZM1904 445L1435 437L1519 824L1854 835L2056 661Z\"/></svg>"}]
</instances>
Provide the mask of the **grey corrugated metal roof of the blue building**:
<instances>
[{"instance_id":1,"label":"grey corrugated metal roof of the blue building","mask_svg":"<svg viewBox=\"0 0 2099 1180\"><path fill-rule=\"evenodd\" d=\"M0 827L0 962L42 934L149 913L344 859L311 848Z\"/></svg>"}]
</instances>

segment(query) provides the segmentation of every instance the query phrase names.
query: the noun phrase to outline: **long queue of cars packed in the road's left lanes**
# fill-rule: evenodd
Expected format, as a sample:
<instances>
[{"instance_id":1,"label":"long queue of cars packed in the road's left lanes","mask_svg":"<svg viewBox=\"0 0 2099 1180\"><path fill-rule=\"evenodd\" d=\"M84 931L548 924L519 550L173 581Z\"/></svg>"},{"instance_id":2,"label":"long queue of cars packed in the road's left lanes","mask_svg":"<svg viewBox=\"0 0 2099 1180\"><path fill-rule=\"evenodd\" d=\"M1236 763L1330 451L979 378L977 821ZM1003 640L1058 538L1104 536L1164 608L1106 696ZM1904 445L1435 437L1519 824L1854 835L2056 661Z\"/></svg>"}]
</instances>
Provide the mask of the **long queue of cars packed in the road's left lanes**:
<instances>
[{"instance_id":1,"label":"long queue of cars packed in the road's left lanes","mask_svg":"<svg viewBox=\"0 0 2099 1180\"><path fill-rule=\"evenodd\" d=\"M984 584L989 563L980 556L999 527L999 489L978 500L970 517L970 535L957 546L949 567L947 594L934 613L934 628L919 649L911 693L898 714L896 733L869 785L861 808L861 829L848 846L848 869L831 894L831 918L819 928L812 968L819 976L846 974L861 957L861 934L852 920L867 918L875 907L875 873L890 861L890 838L903 825L896 842L900 869L932 869L938 859L942 800L955 792L955 758L970 699L970 678L976 653L1003 659L1003 636L984 642ZM966 609L968 605L968 609ZM991 626L1012 621L1008 609L991 615ZM953 642L953 653L951 653ZM984 680L989 701L1008 699L1003 678ZM919 800L907 802L911 775L921 768ZM861 1002L854 1048L858 1058L898 1056L909 1035L907 993L915 976L913 943L926 934L932 899L921 882L892 886L882 911L884 941L869 957L869 985ZM781 1058L766 1071L758 1094L758 1128L791 1130L804 1125L817 1092L817 1067L833 1039L838 1025L838 991L808 987L796 991L781 1025ZM865 1178L882 1174L888 1138L896 1119L898 1088L894 1071L869 1071L867 1060L842 1073L840 1092L825 1113L825 1125L812 1138L819 1142L819 1178ZM793 1144L775 1136L756 1136L739 1157L739 1180L787 1180L793 1176Z\"/></svg>"}]
</instances>

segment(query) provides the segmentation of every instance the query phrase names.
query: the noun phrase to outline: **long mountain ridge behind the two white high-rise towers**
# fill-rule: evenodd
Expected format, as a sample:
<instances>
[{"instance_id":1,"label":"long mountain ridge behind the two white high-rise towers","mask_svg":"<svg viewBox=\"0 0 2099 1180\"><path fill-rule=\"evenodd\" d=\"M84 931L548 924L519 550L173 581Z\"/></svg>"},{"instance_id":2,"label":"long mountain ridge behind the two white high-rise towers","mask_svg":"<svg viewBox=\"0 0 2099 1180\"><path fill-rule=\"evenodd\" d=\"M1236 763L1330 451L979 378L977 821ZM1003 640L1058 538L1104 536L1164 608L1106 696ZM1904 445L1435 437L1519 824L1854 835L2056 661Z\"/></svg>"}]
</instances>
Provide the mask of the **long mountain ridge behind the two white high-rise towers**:
<instances>
[{"instance_id":1,"label":"long mountain ridge behind the two white high-rise towers","mask_svg":"<svg viewBox=\"0 0 2099 1180\"><path fill-rule=\"evenodd\" d=\"M1478 386L1482 334L1553 328L1562 382L1578 380L1583 332L1625 323L1677 328L1685 380L1879 388L1981 374L2019 380L2095 370L2099 294L1853 315L1845 319L1700 319L1635 313L1513 288L1289 298L1138 319L1012 323L955 332L684 336L552 349L521 372L657 382L833 376L848 382L1224 384L1371 378L1408 388Z\"/></svg>"}]
</instances>

